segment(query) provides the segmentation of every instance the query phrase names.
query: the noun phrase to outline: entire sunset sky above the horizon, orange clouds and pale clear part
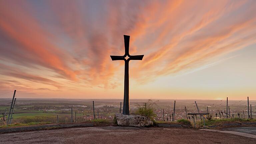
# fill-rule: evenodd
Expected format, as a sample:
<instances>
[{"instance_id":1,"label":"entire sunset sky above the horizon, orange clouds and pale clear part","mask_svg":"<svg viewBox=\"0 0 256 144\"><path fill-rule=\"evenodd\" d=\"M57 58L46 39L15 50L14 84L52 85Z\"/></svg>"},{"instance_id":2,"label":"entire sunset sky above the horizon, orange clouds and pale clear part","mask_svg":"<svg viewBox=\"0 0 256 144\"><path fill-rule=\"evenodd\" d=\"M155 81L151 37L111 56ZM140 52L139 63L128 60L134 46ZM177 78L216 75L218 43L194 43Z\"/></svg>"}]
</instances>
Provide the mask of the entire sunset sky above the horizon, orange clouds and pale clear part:
<instances>
[{"instance_id":1,"label":"entire sunset sky above the horizon, orange clouds and pale clear part","mask_svg":"<svg viewBox=\"0 0 256 144\"><path fill-rule=\"evenodd\" d=\"M255 0L0 0L0 98L256 100ZM7 93L7 94L5 94Z\"/></svg>"}]
</instances>

